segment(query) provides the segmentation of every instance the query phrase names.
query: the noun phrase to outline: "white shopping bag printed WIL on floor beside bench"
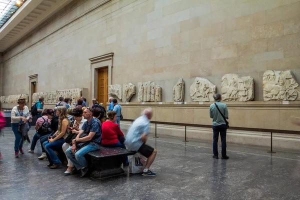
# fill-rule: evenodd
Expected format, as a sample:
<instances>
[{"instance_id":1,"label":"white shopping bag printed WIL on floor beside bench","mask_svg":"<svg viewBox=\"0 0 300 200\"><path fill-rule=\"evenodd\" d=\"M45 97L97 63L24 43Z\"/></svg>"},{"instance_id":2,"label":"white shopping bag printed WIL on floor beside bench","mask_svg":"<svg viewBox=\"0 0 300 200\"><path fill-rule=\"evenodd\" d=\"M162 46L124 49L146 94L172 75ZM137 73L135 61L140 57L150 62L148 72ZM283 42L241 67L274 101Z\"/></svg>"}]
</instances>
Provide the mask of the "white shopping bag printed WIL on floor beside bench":
<instances>
[{"instance_id":1,"label":"white shopping bag printed WIL on floor beside bench","mask_svg":"<svg viewBox=\"0 0 300 200\"><path fill-rule=\"evenodd\" d=\"M129 173L142 173L145 168L147 158L139 153L130 155L129 157Z\"/></svg>"}]
</instances>

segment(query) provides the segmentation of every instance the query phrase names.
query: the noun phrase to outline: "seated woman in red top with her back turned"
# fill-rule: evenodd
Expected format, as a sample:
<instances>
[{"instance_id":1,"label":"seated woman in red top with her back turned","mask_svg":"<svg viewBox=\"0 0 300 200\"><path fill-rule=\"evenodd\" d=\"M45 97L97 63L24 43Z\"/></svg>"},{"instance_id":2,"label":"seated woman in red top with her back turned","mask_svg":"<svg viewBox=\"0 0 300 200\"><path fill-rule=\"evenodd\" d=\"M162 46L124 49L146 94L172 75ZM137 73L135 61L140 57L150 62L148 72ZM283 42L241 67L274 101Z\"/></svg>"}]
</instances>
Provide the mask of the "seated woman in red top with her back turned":
<instances>
[{"instance_id":1,"label":"seated woman in red top with her back turned","mask_svg":"<svg viewBox=\"0 0 300 200\"><path fill-rule=\"evenodd\" d=\"M116 112L109 111L108 112L108 120L102 124L102 145L106 147L121 147L126 148L124 144L122 144L118 136L124 137L123 132L119 128L116 121ZM128 157L123 162L123 166L128 166Z\"/></svg>"}]
</instances>

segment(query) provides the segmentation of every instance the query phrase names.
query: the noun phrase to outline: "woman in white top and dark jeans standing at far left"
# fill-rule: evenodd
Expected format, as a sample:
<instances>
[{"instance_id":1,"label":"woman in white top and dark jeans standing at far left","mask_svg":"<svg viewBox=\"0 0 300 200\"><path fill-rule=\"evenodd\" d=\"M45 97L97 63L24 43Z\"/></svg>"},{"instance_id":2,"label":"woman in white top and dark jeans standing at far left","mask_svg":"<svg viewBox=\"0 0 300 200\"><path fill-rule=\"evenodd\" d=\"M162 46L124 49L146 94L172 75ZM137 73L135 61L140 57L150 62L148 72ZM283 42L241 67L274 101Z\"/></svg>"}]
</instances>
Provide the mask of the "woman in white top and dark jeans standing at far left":
<instances>
[{"instance_id":1,"label":"woman in white top and dark jeans standing at far left","mask_svg":"<svg viewBox=\"0 0 300 200\"><path fill-rule=\"evenodd\" d=\"M19 98L17 100L16 106L14 106L11 110L11 129L15 136L14 140L14 157L18 157L18 152L24 153L22 146L23 146L23 137L22 133L18 131L18 126L21 124L26 124L28 119L30 119L29 109L25 105L26 99ZM26 124L27 125L27 124Z\"/></svg>"}]
</instances>

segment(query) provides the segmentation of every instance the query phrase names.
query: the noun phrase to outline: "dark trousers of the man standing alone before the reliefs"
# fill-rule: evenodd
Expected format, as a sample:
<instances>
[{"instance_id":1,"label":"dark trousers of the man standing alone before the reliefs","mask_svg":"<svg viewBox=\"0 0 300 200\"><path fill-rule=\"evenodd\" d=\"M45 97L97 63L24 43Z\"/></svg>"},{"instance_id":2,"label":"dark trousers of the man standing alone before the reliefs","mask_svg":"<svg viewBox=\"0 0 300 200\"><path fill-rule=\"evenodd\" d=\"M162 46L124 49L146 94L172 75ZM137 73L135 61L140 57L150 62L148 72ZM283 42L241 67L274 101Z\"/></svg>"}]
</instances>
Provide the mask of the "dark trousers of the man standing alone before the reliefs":
<instances>
[{"instance_id":1,"label":"dark trousers of the man standing alone before the reliefs","mask_svg":"<svg viewBox=\"0 0 300 200\"><path fill-rule=\"evenodd\" d=\"M221 144L222 144L222 157L226 156L226 131L227 126L226 124L221 125L213 125L213 143L212 143L212 149L213 149L213 155L218 155L217 151L217 140L218 140L218 134L220 133L221 136Z\"/></svg>"}]
</instances>

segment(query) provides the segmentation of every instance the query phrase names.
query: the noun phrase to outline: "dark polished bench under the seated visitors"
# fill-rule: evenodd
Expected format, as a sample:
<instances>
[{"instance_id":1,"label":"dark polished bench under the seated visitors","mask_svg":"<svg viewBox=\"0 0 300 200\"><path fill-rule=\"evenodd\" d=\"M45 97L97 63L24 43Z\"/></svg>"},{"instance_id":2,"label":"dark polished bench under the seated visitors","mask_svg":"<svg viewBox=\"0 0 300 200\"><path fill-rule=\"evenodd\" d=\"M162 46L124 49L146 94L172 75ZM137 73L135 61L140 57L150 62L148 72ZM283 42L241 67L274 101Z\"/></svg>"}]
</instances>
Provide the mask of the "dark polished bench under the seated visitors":
<instances>
[{"instance_id":1,"label":"dark polished bench under the seated visitors","mask_svg":"<svg viewBox=\"0 0 300 200\"><path fill-rule=\"evenodd\" d=\"M124 156L133 155L135 151L119 147L99 146L98 150L84 155L91 169L92 179L101 179L124 173L121 168Z\"/></svg>"}]
</instances>

